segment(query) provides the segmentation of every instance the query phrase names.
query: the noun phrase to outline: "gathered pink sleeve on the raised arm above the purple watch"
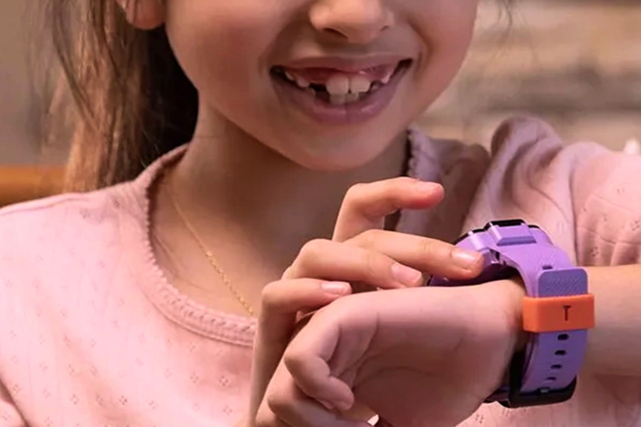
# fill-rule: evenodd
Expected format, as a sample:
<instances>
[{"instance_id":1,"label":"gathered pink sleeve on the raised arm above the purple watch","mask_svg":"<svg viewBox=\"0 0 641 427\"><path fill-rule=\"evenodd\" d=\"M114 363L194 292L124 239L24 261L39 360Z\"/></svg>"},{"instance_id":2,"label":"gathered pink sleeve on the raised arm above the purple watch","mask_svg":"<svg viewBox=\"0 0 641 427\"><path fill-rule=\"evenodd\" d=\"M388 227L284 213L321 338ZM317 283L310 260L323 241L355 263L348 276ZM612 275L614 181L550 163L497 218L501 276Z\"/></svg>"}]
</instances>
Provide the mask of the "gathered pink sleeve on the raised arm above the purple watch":
<instances>
[{"instance_id":1,"label":"gathered pink sleeve on the raised arm above the purple watch","mask_svg":"<svg viewBox=\"0 0 641 427\"><path fill-rule=\"evenodd\" d=\"M641 262L641 156L564 144L534 117L503 122L491 153L466 229L521 218L545 229L577 265Z\"/></svg>"}]
</instances>

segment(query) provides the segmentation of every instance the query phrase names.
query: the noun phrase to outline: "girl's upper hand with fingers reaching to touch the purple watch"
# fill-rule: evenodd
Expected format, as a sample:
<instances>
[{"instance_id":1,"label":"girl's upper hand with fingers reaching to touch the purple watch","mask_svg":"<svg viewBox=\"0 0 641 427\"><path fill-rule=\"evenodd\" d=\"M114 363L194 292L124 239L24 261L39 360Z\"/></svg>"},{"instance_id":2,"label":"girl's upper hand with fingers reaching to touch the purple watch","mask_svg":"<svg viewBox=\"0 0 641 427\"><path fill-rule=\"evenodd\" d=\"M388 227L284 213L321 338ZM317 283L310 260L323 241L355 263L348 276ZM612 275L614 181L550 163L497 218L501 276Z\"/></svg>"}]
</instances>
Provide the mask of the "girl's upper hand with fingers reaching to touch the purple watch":
<instances>
[{"instance_id":1,"label":"girl's upper hand with fingers reaching to touch the purple watch","mask_svg":"<svg viewBox=\"0 0 641 427\"><path fill-rule=\"evenodd\" d=\"M353 186L345 195L333 238L308 242L281 280L265 287L254 342L251 421L262 405L258 425L279 425L270 421L274 416L263 394L302 310L318 309L351 293L347 282L395 289L420 286L423 272L449 278L479 274L478 254L462 253L435 239L381 230L385 217L395 211L428 209L442 198L440 185L405 177Z\"/></svg>"}]
</instances>

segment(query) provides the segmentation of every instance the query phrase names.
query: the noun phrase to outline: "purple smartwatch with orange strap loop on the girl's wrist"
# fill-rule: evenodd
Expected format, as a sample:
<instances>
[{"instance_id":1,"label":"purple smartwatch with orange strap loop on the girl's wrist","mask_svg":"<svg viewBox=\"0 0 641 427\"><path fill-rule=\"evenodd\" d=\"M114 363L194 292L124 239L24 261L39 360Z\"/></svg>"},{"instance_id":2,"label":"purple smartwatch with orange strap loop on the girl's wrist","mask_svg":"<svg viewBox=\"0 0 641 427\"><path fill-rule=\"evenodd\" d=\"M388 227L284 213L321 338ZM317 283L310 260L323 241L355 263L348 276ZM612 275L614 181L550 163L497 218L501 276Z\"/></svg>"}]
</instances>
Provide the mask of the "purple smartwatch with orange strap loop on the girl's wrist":
<instances>
[{"instance_id":1,"label":"purple smartwatch with orange strap loop on the girl's wrist","mask_svg":"<svg viewBox=\"0 0 641 427\"><path fill-rule=\"evenodd\" d=\"M510 362L508 380L485 403L507 408L560 403L572 397L583 364L587 330L594 327L594 296L585 270L536 225L523 220L487 223L454 244L483 255L483 270L472 280L433 276L428 286L465 286L520 275L525 287L524 351Z\"/></svg>"}]
</instances>

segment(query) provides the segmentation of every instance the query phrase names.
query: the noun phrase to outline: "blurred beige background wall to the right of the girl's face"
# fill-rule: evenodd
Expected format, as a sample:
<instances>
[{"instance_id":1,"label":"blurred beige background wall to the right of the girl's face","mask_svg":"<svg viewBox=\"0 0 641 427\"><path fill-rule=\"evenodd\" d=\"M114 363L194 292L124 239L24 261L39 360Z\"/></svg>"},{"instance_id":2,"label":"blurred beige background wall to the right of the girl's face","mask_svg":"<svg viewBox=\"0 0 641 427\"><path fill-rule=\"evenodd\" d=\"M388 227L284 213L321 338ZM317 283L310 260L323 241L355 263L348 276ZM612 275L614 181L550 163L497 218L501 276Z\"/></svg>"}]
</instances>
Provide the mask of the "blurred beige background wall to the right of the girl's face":
<instances>
[{"instance_id":1,"label":"blurred beige background wall to the right of the girl's face","mask_svg":"<svg viewBox=\"0 0 641 427\"><path fill-rule=\"evenodd\" d=\"M505 117L529 112L567 142L619 150L641 139L641 1L514 3L510 28L482 0L465 67L421 124L487 145Z\"/></svg>"}]
</instances>

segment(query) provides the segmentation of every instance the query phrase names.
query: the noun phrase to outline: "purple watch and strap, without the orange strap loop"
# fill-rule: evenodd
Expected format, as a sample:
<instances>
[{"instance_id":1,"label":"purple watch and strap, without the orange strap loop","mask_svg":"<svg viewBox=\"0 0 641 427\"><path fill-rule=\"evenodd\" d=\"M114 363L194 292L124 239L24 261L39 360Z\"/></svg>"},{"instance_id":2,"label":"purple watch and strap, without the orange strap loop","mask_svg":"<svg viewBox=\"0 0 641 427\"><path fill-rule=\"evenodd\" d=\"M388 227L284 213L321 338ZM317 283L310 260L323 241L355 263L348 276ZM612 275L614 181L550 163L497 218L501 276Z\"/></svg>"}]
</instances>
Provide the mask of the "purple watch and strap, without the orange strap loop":
<instances>
[{"instance_id":1,"label":"purple watch and strap, without the orange strap loop","mask_svg":"<svg viewBox=\"0 0 641 427\"><path fill-rule=\"evenodd\" d=\"M585 270L572 266L569 257L538 227L521 220L490 222L483 229L470 231L457 246L484 255L483 273L474 280L450 281L433 277L431 286L462 286L522 277L528 296L568 296L586 294ZM569 398L583 364L587 330L530 334L524 353L512 363L512 377L518 376L518 390L506 385L487 401L510 401L517 407L554 403ZM515 386L511 378L511 386ZM559 392L561 391L561 392Z\"/></svg>"}]
</instances>

